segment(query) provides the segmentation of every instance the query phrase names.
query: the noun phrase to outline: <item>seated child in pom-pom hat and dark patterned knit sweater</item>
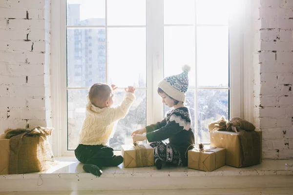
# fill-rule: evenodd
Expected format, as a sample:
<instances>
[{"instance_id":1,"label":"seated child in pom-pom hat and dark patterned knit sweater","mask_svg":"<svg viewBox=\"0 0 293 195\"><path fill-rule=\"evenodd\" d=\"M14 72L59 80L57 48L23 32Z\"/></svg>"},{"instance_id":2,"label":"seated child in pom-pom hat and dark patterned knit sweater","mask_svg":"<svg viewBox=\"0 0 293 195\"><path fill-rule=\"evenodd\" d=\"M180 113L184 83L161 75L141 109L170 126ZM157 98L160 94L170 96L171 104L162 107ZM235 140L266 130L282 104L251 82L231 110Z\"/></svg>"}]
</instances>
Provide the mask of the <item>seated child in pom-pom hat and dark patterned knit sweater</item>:
<instances>
[{"instance_id":1,"label":"seated child in pom-pom hat and dark patterned knit sweater","mask_svg":"<svg viewBox=\"0 0 293 195\"><path fill-rule=\"evenodd\" d=\"M188 90L188 65L183 66L179 75L164 78L158 84L158 94L163 103L173 110L167 113L161 122L146 126L132 132L134 142L148 140L154 148L155 166L162 169L168 162L173 165L187 166L188 156L185 153L194 144L191 129L190 112L185 107L185 94ZM164 140L169 139L169 143ZM189 148L188 148L189 147Z\"/></svg>"}]
</instances>

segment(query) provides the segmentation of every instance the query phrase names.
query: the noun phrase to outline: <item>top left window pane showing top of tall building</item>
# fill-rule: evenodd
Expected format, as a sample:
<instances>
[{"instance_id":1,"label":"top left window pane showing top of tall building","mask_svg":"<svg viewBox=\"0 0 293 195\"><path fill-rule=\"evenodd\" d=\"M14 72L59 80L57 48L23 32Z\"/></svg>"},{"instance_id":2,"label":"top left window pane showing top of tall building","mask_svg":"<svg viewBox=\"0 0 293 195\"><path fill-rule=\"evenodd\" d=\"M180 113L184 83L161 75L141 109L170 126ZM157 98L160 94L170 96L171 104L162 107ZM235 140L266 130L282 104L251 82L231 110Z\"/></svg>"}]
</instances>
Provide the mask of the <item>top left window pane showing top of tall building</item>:
<instances>
[{"instance_id":1,"label":"top left window pane showing top of tall building","mask_svg":"<svg viewBox=\"0 0 293 195\"><path fill-rule=\"evenodd\" d=\"M67 25L105 25L105 0L67 0Z\"/></svg>"}]
</instances>

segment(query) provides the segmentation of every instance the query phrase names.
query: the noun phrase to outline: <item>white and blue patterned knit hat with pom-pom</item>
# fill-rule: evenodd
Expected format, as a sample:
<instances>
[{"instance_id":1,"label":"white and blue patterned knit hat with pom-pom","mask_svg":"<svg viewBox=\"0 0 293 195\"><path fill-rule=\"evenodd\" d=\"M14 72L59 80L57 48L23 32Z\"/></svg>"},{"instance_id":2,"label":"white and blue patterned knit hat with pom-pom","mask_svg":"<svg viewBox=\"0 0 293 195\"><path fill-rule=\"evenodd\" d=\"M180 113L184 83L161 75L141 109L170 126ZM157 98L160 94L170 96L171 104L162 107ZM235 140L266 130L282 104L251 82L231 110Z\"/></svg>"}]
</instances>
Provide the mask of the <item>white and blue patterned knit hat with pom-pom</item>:
<instances>
[{"instance_id":1,"label":"white and blue patterned knit hat with pom-pom","mask_svg":"<svg viewBox=\"0 0 293 195\"><path fill-rule=\"evenodd\" d=\"M161 80L158 87L161 88L168 96L178 101L185 102L185 93L188 90L188 72L189 65L182 66L183 72L179 75L173 75Z\"/></svg>"}]
</instances>

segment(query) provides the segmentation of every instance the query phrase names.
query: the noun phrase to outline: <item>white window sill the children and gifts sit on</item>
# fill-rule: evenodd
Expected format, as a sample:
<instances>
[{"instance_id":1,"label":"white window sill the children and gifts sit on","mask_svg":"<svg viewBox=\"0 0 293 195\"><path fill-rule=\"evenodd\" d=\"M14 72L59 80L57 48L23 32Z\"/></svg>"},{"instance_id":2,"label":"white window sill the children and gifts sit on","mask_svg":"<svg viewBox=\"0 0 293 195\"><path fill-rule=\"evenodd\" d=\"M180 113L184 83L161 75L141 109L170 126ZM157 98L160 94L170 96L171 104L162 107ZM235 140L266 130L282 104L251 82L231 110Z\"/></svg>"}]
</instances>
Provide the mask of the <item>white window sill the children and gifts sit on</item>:
<instances>
[{"instance_id":1,"label":"white window sill the children and gifts sit on","mask_svg":"<svg viewBox=\"0 0 293 195\"><path fill-rule=\"evenodd\" d=\"M135 190L290 187L293 160L263 160L256 166L223 166L213 172L187 167L106 167L101 177L84 173L74 157L56 158L51 169L31 174L0 176L0 191ZM18 185L15 185L18 183Z\"/></svg>"}]
</instances>

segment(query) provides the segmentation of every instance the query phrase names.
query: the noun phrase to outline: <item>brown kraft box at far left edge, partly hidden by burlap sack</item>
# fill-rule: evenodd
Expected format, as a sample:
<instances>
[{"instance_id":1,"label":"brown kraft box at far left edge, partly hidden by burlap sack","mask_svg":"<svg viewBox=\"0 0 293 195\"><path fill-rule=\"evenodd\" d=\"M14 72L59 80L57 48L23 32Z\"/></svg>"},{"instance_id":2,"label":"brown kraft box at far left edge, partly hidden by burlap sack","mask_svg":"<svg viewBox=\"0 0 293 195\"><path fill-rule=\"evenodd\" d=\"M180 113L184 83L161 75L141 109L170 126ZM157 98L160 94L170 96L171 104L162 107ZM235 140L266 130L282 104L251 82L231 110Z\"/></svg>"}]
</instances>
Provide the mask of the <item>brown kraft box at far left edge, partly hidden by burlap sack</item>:
<instances>
[{"instance_id":1,"label":"brown kraft box at far left edge, partly hidden by burlap sack","mask_svg":"<svg viewBox=\"0 0 293 195\"><path fill-rule=\"evenodd\" d=\"M6 139L4 134L2 134L0 135L0 175L7 175L9 173L9 156L9 139Z\"/></svg>"}]
</instances>

